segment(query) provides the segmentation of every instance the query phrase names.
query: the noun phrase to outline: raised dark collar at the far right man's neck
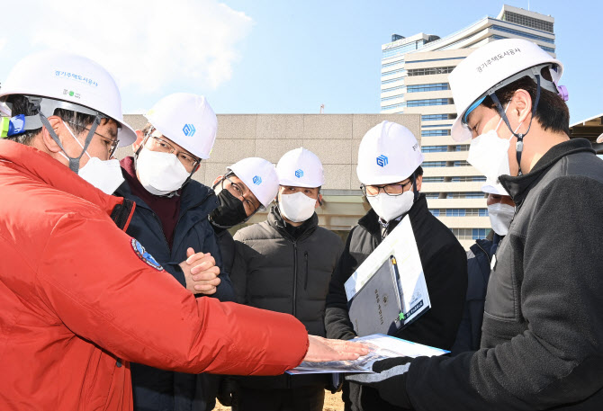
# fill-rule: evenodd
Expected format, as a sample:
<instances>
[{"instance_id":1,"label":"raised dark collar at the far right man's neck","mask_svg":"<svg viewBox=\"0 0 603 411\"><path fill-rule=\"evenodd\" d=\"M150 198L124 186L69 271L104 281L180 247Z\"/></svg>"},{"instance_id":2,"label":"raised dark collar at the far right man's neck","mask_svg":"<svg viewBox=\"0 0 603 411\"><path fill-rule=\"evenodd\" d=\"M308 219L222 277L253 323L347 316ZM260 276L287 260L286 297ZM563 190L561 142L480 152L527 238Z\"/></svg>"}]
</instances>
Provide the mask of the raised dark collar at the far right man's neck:
<instances>
[{"instance_id":1,"label":"raised dark collar at the far right man's neck","mask_svg":"<svg viewBox=\"0 0 603 411\"><path fill-rule=\"evenodd\" d=\"M518 208L526 199L530 187L536 183L546 172L561 160L564 156L569 156L574 153L588 152L595 154L590 141L586 138L572 138L569 141L563 141L551 147L545 156L534 165L534 168L529 173L511 177L510 175L501 175L499 177L502 186L509 192L511 198L517 204Z\"/></svg>"}]
</instances>

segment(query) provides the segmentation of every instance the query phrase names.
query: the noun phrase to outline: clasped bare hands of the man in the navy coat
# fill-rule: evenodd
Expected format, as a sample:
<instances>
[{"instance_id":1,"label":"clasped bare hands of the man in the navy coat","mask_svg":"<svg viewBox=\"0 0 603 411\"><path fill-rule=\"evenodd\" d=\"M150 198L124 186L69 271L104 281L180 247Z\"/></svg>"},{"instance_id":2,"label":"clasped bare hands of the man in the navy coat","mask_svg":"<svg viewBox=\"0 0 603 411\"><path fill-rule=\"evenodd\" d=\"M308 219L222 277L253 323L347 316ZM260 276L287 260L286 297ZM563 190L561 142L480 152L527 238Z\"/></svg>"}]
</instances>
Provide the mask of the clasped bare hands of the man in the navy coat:
<instances>
[{"instance_id":1,"label":"clasped bare hands of the man in the navy coat","mask_svg":"<svg viewBox=\"0 0 603 411\"><path fill-rule=\"evenodd\" d=\"M220 267L216 266L216 261L211 254L196 253L193 248L186 250L186 260L180 263L180 268L184 272L186 289L193 294L211 295L216 292L220 284Z\"/></svg>"}]
</instances>

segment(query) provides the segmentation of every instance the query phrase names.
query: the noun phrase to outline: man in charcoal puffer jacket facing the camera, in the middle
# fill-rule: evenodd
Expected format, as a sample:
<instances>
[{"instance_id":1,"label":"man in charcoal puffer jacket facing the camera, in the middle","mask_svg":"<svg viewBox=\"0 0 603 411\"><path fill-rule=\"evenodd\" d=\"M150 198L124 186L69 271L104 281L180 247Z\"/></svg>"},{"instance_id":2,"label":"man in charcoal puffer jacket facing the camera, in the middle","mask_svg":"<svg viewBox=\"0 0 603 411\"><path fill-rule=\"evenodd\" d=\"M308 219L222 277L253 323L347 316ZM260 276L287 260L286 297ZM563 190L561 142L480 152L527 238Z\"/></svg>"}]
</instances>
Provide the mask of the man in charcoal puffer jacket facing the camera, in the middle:
<instances>
[{"instance_id":1,"label":"man in charcoal puffer jacket facing the camera, in the middle","mask_svg":"<svg viewBox=\"0 0 603 411\"><path fill-rule=\"evenodd\" d=\"M238 230L231 279L238 302L292 314L312 335L325 335L324 303L341 239L319 227L320 159L296 148L276 165L278 204L268 219ZM330 374L239 379L237 411L322 410Z\"/></svg>"}]
</instances>

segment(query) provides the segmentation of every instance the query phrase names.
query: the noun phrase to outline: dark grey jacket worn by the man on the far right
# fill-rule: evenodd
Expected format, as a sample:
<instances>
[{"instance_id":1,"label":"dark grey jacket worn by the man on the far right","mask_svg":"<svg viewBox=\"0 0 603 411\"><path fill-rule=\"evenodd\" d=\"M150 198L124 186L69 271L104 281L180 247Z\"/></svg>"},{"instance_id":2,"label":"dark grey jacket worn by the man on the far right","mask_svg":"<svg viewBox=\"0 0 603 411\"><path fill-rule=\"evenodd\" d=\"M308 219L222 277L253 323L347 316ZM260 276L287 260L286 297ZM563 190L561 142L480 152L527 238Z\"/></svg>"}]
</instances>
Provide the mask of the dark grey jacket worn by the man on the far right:
<instances>
[{"instance_id":1,"label":"dark grey jacket worn by the man on the far right","mask_svg":"<svg viewBox=\"0 0 603 411\"><path fill-rule=\"evenodd\" d=\"M603 409L603 161L575 138L500 183L517 208L488 283L482 348L413 360L410 401L418 410Z\"/></svg>"}]
</instances>

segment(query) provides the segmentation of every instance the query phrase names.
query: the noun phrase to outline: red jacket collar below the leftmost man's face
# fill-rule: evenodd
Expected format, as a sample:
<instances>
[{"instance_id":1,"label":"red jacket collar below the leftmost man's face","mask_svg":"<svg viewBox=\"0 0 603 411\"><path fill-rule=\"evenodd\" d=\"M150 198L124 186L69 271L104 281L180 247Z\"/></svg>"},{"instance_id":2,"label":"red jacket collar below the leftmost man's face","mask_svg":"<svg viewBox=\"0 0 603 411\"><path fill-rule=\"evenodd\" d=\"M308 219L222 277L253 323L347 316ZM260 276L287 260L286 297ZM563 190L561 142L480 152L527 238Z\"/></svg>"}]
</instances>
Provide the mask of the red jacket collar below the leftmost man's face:
<instances>
[{"instance_id":1,"label":"red jacket collar below the leftmost man's face","mask_svg":"<svg viewBox=\"0 0 603 411\"><path fill-rule=\"evenodd\" d=\"M113 216L119 218L121 224L118 223L118 226L123 230L130 223L131 214L134 211L133 204L127 204L121 197L114 197L98 190L94 185L69 170L67 165L62 165L37 148L11 140L2 140L0 141L0 162L6 166L18 168L19 171L30 174L32 179L46 183L58 191L92 202L112 218Z\"/></svg>"}]
</instances>

